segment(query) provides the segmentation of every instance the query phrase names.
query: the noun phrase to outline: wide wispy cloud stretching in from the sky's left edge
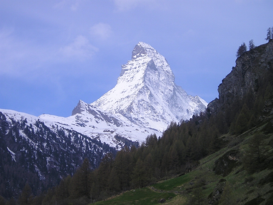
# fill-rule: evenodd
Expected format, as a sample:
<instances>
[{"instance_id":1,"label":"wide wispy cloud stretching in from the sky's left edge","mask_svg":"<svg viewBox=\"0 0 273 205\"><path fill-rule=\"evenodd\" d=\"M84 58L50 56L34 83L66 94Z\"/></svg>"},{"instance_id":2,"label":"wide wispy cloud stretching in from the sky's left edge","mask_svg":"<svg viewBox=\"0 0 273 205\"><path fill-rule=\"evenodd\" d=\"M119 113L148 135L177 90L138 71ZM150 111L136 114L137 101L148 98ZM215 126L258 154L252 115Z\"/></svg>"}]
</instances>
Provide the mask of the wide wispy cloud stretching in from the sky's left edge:
<instances>
[{"instance_id":1,"label":"wide wispy cloud stretching in from the sky's left edge","mask_svg":"<svg viewBox=\"0 0 273 205\"><path fill-rule=\"evenodd\" d=\"M13 28L0 30L0 42L0 75L17 77L34 71L38 74L44 69L49 71L51 66L48 65L58 62L87 60L98 51L83 35L62 47L57 44L47 46L19 38Z\"/></svg>"}]
</instances>

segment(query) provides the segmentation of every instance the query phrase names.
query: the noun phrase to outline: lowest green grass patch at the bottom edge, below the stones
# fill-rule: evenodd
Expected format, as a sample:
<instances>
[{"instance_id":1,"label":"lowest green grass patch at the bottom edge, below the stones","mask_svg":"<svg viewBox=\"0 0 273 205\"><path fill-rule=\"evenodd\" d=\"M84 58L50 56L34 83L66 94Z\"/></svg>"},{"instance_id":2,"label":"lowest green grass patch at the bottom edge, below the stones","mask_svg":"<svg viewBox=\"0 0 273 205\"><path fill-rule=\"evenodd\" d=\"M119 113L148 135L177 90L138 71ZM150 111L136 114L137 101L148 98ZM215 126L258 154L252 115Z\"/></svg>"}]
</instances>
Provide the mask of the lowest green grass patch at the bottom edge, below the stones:
<instances>
[{"instance_id":1,"label":"lowest green grass patch at the bottom edge, below the stones","mask_svg":"<svg viewBox=\"0 0 273 205\"><path fill-rule=\"evenodd\" d=\"M107 201L100 201L97 203L94 203L96 205L99 204L109 204L109 205L126 205L126 204L158 204L159 200L164 198L165 200L168 200L170 197L175 197L174 193L169 192L155 192L151 190L150 188L141 188L136 189L135 191L127 191L120 196L117 196L113 199L107 200Z\"/></svg>"}]
</instances>

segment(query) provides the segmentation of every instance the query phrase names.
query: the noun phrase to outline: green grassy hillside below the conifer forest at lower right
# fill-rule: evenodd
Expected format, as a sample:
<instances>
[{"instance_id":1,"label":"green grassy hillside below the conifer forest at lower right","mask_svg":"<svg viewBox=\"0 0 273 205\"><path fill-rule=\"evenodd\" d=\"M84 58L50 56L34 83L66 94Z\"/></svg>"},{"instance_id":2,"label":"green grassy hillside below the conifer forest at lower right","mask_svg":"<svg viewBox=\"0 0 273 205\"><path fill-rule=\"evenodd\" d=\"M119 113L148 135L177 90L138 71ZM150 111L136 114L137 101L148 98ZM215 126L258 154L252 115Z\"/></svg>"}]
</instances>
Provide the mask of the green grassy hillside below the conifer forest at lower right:
<instances>
[{"instance_id":1,"label":"green grassy hillside below the conifer forest at lower right","mask_svg":"<svg viewBox=\"0 0 273 205\"><path fill-rule=\"evenodd\" d=\"M273 116L268 117L273 119ZM199 161L193 171L159 181L146 188L126 191L98 205L117 204L242 204L273 203L273 164L249 173L243 162L245 150L255 134L265 125L257 126L239 136L223 135L227 146ZM263 135L265 144L272 144L271 134ZM272 147L271 147L272 151ZM270 158L272 155L270 156ZM270 159L271 161L271 159ZM220 163L219 163L220 162ZM219 201L220 200L220 201Z\"/></svg>"}]
</instances>

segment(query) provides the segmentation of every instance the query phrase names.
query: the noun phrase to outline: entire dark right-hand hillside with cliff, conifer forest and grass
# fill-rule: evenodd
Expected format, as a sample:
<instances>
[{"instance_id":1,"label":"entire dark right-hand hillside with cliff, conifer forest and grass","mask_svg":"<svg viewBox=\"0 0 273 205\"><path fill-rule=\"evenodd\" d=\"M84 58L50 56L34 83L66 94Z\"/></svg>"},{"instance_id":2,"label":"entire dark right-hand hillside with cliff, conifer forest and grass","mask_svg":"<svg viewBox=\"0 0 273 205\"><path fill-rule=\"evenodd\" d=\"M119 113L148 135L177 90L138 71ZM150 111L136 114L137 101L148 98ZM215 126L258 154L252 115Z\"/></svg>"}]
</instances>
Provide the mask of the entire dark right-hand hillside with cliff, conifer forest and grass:
<instances>
[{"instance_id":1,"label":"entire dark right-hand hillside with cliff, conifer forest and grass","mask_svg":"<svg viewBox=\"0 0 273 205\"><path fill-rule=\"evenodd\" d=\"M170 200L171 204L175 196L182 204L272 204L272 188L268 186L273 183L272 65L272 40L244 52L219 85L219 99L210 102L206 112L179 124L172 122L162 137L150 135L139 148L125 147L115 158L111 153L105 155L94 171L88 168L88 159L84 160L72 178L65 178L36 201L87 204L91 199L104 200L182 175L152 185L152 191L128 192L127 199L124 194L110 200L111 204L130 204L125 201L134 197L144 200L147 192L147 198L155 197L150 203ZM65 192L63 187L69 188ZM159 200L153 194L169 198Z\"/></svg>"}]
</instances>

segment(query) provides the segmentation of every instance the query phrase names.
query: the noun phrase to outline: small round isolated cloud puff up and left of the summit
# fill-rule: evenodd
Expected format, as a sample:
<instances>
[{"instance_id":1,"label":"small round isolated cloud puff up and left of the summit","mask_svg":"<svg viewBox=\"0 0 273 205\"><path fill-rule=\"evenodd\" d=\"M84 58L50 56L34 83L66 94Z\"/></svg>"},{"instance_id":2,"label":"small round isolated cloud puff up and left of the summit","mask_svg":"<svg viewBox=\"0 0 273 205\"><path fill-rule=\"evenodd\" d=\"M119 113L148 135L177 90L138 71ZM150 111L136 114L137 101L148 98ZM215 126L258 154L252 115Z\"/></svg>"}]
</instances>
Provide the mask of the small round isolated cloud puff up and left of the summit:
<instances>
[{"instance_id":1,"label":"small round isolated cloud puff up and left of the summit","mask_svg":"<svg viewBox=\"0 0 273 205\"><path fill-rule=\"evenodd\" d=\"M94 36L98 40L106 40L111 35L112 30L109 24L98 23L90 28L91 36Z\"/></svg>"}]
</instances>

